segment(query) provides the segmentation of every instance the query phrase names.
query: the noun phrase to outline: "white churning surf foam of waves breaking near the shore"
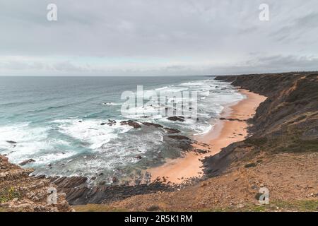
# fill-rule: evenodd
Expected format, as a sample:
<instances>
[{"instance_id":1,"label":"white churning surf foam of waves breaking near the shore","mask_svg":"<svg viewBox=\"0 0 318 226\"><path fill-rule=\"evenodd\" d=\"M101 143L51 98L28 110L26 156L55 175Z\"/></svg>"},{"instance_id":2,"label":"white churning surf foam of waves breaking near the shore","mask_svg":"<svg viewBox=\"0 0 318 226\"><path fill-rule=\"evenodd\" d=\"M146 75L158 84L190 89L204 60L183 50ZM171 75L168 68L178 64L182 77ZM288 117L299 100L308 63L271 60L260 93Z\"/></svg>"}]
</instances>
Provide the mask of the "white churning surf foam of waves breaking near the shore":
<instances>
[{"instance_id":1,"label":"white churning surf foam of waves breaking near the shore","mask_svg":"<svg viewBox=\"0 0 318 226\"><path fill-rule=\"evenodd\" d=\"M218 87L216 88L216 86ZM163 124L163 126L179 129L186 134L201 135L213 129L213 125L208 124L208 121L211 117L218 117L223 111L223 106L244 98L228 83L213 80L190 81L155 89L157 93L184 90L198 92L197 116L199 120L186 118L184 121L170 121L167 117L158 114L160 112L158 110L166 107L159 105L130 109L131 114L128 117ZM170 101L172 100L173 98L170 99ZM98 100L98 103L100 102L100 105L121 105L119 101L102 101ZM183 102L183 100L177 98L175 102ZM183 103L183 105L187 107L187 103ZM104 111L107 109L107 106L99 107ZM113 109L113 107L109 109ZM145 118L151 114L153 117ZM79 122L80 120L82 122ZM117 167L131 166L139 162L136 155L147 155L149 151L160 152L160 147L165 142L162 129L152 130L143 126L142 129L133 129L127 133L132 127L121 126L120 120L117 120L117 124L113 126L107 124L102 126L102 122L107 123L107 119L73 117L49 121L41 126L30 124L2 126L0 127L0 153L8 154L9 159L16 163L33 158L36 162L33 162L32 166L44 165L42 169L45 173L95 174L102 169L114 171ZM16 141L17 143L11 144L6 141ZM64 162L67 167L47 169L47 164L54 161L59 164Z\"/></svg>"}]
</instances>

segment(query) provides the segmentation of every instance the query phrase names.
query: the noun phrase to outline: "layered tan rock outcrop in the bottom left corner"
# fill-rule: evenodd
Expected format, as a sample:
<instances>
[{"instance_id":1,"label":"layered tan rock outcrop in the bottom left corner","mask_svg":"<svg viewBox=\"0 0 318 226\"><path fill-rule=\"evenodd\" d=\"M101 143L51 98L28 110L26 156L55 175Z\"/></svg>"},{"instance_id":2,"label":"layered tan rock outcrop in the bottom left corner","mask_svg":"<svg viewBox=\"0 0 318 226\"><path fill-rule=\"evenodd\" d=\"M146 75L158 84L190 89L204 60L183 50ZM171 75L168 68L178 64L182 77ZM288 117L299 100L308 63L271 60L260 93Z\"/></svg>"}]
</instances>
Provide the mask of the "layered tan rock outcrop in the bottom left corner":
<instances>
[{"instance_id":1,"label":"layered tan rock outcrop in the bottom left corner","mask_svg":"<svg viewBox=\"0 0 318 226\"><path fill-rule=\"evenodd\" d=\"M55 186L47 179L30 177L33 169L22 169L0 155L0 208L13 212L69 212L66 195L57 193L57 203L48 203Z\"/></svg>"}]
</instances>

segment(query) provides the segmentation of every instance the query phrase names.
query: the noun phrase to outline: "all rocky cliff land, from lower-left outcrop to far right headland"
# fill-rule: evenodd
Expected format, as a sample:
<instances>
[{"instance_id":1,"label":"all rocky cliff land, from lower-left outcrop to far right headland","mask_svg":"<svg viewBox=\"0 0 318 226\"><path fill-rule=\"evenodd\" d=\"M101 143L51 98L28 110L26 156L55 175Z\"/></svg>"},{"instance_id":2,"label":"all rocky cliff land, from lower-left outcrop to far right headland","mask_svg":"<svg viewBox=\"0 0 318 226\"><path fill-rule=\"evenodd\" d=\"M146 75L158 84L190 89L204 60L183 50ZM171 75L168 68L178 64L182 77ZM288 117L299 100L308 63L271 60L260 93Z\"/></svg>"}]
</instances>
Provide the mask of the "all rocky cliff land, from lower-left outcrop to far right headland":
<instances>
[{"instance_id":1,"label":"all rocky cliff land, from lower-left outcrop to far right headland","mask_svg":"<svg viewBox=\"0 0 318 226\"><path fill-rule=\"evenodd\" d=\"M264 95L248 120L249 136L206 157L204 177L194 185L88 187L85 177L29 177L31 169L0 155L0 210L318 210L318 73L218 76L237 88ZM232 119L237 120L237 119ZM54 184L54 185L52 185ZM11 189L14 185L14 189ZM61 199L47 205L47 189ZM271 204L259 206L259 189L269 189Z\"/></svg>"}]
</instances>

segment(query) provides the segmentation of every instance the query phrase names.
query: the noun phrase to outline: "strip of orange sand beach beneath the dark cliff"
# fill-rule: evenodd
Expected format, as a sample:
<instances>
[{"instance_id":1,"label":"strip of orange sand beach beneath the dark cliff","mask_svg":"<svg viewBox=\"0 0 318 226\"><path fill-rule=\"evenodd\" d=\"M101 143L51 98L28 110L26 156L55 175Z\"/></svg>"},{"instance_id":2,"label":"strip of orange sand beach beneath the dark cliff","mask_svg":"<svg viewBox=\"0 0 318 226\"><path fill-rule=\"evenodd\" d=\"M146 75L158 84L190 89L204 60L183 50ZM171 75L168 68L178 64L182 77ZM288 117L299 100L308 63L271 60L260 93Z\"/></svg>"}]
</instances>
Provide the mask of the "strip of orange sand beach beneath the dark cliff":
<instances>
[{"instance_id":1,"label":"strip of orange sand beach beneath the dark cliff","mask_svg":"<svg viewBox=\"0 0 318 226\"><path fill-rule=\"evenodd\" d=\"M189 152L184 154L183 157L167 160L160 167L148 169L152 180L165 178L165 182L180 184L187 179L201 177L203 175L201 160L204 157L215 155L220 152L221 148L237 141L243 141L248 136L245 120L254 116L257 107L266 100L266 97L248 90L240 89L239 91L246 98L225 106L220 116L220 119L225 118L225 120L211 119L211 124L214 125L213 129L206 134L193 137L194 141L197 141L194 148L208 150L208 153ZM243 121L226 119L240 119Z\"/></svg>"}]
</instances>

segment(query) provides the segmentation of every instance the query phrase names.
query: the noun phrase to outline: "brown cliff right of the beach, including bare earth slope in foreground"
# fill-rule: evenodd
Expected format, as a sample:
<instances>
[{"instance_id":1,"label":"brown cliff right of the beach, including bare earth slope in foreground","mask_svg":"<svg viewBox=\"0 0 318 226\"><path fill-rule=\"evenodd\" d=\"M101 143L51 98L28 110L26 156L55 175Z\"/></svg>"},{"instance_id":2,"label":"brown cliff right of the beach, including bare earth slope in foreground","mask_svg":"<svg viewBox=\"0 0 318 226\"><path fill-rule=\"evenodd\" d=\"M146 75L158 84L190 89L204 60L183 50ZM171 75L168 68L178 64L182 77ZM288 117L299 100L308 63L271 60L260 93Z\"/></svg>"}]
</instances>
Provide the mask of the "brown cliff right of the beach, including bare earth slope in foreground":
<instances>
[{"instance_id":1,"label":"brown cliff right of the beach, including bare earth slope in foreground","mask_svg":"<svg viewBox=\"0 0 318 226\"><path fill-rule=\"evenodd\" d=\"M107 209L208 211L318 210L318 73L218 76L264 95L249 136L203 160L206 179L181 191L146 194ZM270 204L259 206L259 189ZM86 206L79 210L102 210Z\"/></svg>"}]
</instances>

